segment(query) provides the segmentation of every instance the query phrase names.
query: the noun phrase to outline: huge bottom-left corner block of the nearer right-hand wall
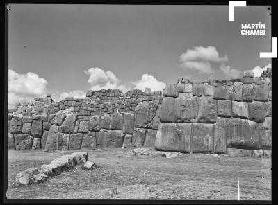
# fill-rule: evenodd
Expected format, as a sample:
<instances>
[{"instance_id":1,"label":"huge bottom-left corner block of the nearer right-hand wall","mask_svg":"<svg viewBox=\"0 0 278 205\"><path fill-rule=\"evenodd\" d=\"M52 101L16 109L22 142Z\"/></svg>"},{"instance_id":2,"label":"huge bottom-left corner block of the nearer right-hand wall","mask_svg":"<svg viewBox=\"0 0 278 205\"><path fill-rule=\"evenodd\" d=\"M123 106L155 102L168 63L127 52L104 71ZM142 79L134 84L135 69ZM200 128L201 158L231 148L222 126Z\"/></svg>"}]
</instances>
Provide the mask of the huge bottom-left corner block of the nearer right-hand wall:
<instances>
[{"instance_id":1,"label":"huge bottom-left corner block of the nearer right-hand wall","mask_svg":"<svg viewBox=\"0 0 278 205\"><path fill-rule=\"evenodd\" d=\"M190 152L191 123L161 123L158 127L155 149Z\"/></svg>"}]
</instances>

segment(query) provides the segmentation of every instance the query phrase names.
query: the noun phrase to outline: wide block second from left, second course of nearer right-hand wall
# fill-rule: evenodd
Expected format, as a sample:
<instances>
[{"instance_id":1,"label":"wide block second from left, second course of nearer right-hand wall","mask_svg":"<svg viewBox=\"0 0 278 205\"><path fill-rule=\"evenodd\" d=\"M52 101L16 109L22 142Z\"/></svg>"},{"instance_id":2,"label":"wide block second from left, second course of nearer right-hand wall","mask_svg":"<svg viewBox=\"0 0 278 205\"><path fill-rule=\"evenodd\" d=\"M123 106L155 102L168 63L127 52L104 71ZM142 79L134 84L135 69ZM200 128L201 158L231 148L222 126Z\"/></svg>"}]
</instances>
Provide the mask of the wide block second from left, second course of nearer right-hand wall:
<instances>
[{"instance_id":1,"label":"wide block second from left, second course of nearer right-hand wall","mask_svg":"<svg viewBox=\"0 0 278 205\"><path fill-rule=\"evenodd\" d=\"M172 114L174 114L174 121L179 123L196 122L198 108L199 108L198 97L193 96L193 94L189 94L189 93L179 93L179 97L174 99L174 111L172 112ZM170 109L170 107L168 109ZM165 121L161 120L161 122L165 122Z\"/></svg>"}]
</instances>

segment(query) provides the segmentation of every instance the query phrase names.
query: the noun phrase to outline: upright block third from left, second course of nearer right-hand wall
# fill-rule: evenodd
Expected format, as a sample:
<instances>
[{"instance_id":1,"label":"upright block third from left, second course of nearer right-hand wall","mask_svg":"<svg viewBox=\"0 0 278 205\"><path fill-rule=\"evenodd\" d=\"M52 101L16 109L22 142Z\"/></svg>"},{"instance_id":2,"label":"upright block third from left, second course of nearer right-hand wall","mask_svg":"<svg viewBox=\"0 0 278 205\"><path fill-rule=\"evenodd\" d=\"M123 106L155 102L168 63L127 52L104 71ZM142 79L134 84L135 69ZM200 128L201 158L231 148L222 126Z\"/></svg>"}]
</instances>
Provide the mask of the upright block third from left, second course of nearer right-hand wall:
<instances>
[{"instance_id":1,"label":"upright block third from left, second course of nearer right-hand wall","mask_svg":"<svg viewBox=\"0 0 278 205\"><path fill-rule=\"evenodd\" d=\"M215 123L217 116L216 102L211 97L199 98L198 123Z\"/></svg>"}]
</instances>

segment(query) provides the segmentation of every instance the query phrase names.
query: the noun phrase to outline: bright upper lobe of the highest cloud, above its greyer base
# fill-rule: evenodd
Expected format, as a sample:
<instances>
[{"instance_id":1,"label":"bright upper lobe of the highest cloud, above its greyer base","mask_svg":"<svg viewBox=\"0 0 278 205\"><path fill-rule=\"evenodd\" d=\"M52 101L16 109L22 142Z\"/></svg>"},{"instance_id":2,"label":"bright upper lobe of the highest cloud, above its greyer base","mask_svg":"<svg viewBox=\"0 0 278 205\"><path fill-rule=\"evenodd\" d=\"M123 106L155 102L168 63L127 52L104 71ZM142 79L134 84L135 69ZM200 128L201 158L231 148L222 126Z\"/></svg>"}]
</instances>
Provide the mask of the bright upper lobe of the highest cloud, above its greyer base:
<instances>
[{"instance_id":1,"label":"bright upper lobe of the highest cloud, above its greyer base","mask_svg":"<svg viewBox=\"0 0 278 205\"><path fill-rule=\"evenodd\" d=\"M196 46L193 50L187 50L180 56L181 62L188 62L193 60L202 60L206 62L227 62L229 59L227 55L220 57L218 51L213 46L203 47Z\"/></svg>"}]
</instances>

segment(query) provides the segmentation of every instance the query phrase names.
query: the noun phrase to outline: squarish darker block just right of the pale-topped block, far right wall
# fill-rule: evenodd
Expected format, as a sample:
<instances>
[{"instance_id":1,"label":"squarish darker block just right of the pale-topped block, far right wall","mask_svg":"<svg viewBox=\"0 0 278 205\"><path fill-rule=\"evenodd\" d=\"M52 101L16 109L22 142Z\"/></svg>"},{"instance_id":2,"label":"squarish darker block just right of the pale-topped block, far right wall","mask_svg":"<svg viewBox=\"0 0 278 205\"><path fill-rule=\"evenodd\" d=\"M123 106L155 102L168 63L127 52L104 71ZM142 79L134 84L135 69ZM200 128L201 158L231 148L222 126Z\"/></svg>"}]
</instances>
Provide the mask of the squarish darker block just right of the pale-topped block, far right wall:
<instances>
[{"instance_id":1,"label":"squarish darker block just right of the pale-topped block, far right wall","mask_svg":"<svg viewBox=\"0 0 278 205\"><path fill-rule=\"evenodd\" d=\"M258 123L263 123L267 114L267 107L264 102L254 101L248 103L249 119Z\"/></svg>"}]
</instances>

